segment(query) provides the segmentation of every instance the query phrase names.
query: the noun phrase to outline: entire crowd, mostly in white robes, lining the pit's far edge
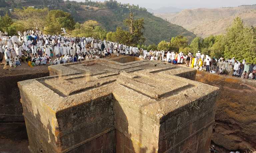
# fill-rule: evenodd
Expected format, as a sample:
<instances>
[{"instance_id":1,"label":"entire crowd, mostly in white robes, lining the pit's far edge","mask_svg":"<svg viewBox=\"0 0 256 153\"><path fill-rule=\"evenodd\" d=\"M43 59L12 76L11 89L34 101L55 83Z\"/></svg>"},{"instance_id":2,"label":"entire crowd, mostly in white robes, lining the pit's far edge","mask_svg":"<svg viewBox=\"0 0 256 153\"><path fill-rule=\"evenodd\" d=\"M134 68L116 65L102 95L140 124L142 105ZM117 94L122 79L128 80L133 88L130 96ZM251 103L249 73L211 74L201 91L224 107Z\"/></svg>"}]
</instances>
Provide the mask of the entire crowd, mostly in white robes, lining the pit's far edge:
<instances>
[{"instance_id":1,"label":"entire crowd, mostly in white robes, lining the pit's far edge","mask_svg":"<svg viewBox=\"0 0 256 153\"><path fill-rule=\"evenodd\" d=\"M27 62L30 67L77 62L105 58L111 54L136 56L150 61L162 61L175 65L186 65L199 71L220 75L255 79L256 65L245 60L216 59L199 51L187 55L167 51L146 51L118 42L85 37L43 35L41 31L25 31L18 36L6 36L0 32L0 64L5 59L5 70ZM54 59L54 60L53 60Z\"/></svg>"}]
</instances>

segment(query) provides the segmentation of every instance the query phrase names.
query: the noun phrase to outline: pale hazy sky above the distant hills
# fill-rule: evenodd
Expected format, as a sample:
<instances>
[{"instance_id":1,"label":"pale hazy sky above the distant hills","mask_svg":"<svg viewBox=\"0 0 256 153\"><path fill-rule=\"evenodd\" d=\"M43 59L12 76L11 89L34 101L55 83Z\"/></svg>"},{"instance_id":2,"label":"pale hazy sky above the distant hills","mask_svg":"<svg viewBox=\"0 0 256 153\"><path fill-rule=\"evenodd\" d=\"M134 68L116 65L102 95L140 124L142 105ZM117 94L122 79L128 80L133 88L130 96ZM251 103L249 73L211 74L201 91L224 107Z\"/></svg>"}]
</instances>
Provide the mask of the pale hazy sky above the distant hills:
<instances>
[{"instance_id":1,"label":"pale hazy sky above the distant hills","mask_svg":"<svg viewBox=\"0 0 256 153\"><path fill-rule=\"evenodd\" d=\"M83 1L83 0L77 0ZM93 0L96 1L96 0ZM103 2L104 0L98 0ZM239 5L256 4L255 0L117 0L121 3L130 3L146 8L157 9L160 7L177 7L185 8L217 8Z\"/></svg>"}]
</instances>

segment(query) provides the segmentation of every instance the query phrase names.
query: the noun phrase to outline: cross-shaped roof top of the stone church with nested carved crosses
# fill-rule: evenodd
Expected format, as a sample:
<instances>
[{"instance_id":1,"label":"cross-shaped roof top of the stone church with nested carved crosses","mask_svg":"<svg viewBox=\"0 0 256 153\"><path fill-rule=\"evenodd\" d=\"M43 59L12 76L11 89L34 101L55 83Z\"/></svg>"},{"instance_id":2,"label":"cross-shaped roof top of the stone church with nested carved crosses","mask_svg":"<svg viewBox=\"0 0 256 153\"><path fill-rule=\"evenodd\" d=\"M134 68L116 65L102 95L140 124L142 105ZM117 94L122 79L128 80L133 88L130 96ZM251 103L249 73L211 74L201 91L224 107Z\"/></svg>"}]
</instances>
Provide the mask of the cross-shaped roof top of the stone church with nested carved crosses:
<instances>
[{"instance_id":1,"label":"cross-shaped roof top of the stone church with nested carved crosses","mask_svg":"<svg viewBox=\"0 0 256 153\"><path fill-rule=\"evenodd\" d=\"M195 74L193 69L147 60L129 63L114 60L97 59L49 66L49 71L60 76L26 80L19 82L19 86L37 96L54 112L119 93L120 97L115 98L129 99L134 106L145 107L145 114L160 118L162 114L218 89L179 77L185 73ZM88 71L90 81L86 81L85 73Z\"/></svg>"}]
</instances>

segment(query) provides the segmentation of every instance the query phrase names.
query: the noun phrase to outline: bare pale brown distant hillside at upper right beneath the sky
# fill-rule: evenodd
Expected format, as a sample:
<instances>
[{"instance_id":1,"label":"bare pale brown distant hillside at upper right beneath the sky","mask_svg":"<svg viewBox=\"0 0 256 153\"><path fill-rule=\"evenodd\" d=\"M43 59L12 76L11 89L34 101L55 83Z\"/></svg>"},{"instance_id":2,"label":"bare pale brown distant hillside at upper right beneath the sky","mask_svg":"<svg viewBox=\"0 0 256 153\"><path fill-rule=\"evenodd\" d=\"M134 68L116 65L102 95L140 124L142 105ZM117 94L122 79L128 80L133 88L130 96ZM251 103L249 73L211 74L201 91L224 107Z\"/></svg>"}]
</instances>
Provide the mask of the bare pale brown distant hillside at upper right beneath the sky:
<instances>
[{"instance_id":1,"label":"bare pale brown distant hillside at upper right beneath the sky","mask_svg":"<svg viewBox=\"0 0 256 153\"><path fill-rule=\"evenodd\" d=\"M236 16L248 26L256 26L256 5L216 9L186 9L179 13L155 14L170 23L180 25L200 37L208 37L225 32Z\"/></svg>"}]
</instances>

